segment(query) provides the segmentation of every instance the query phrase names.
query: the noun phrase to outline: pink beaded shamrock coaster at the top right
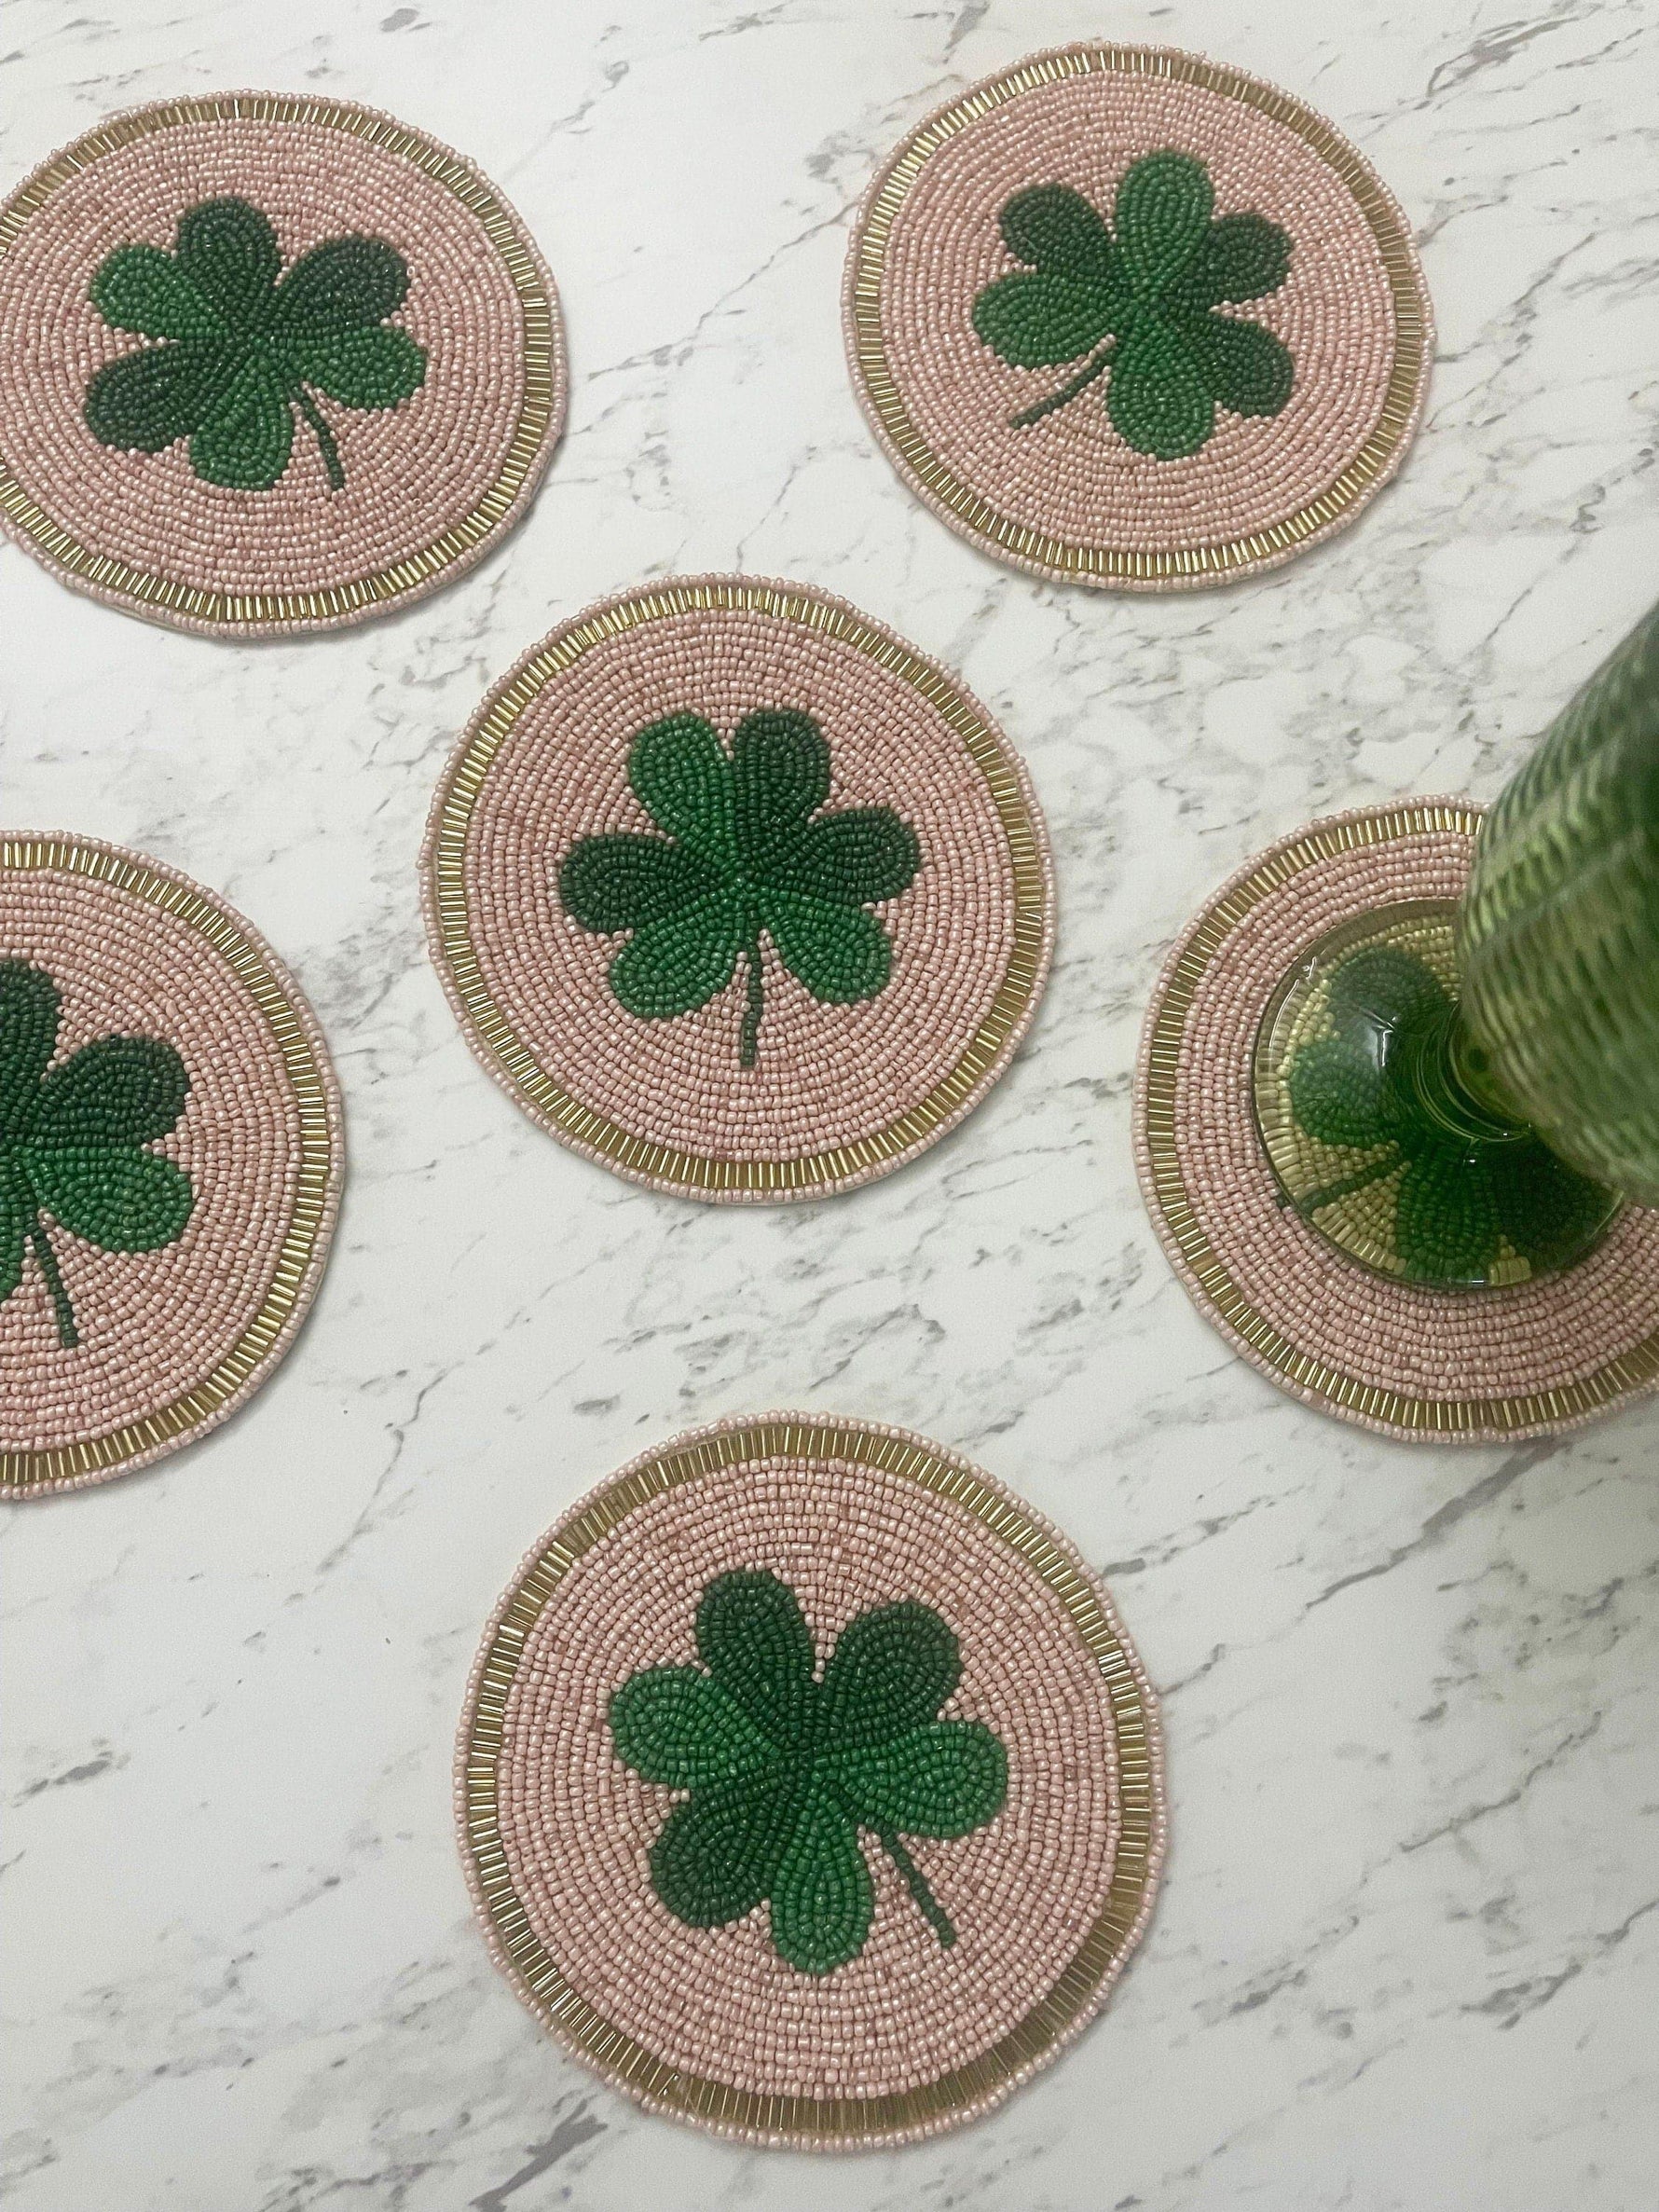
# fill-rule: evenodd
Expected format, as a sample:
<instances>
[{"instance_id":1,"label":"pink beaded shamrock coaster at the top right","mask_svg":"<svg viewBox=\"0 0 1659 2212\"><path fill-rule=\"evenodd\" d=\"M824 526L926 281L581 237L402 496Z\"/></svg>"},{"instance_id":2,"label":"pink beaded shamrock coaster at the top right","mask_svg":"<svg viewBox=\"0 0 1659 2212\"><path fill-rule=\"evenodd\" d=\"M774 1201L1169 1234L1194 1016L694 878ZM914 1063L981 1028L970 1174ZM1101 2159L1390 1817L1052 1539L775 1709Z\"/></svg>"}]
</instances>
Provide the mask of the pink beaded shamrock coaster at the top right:
<instances>
[{"instance_id":1,"label":"pink beaded shamrock coaster at the top right","mask_svg":"<svg viewBox=\"0 0 1659 2212\"><path fill-rule=\"evenodd\" d=\"M1290 93L1166 46L1035 53L936 108L865 197L845 327L942 522L1117 591L1228 582L1349 522L1433 352L1371 166Z\"/></svg>"}]
</instances>

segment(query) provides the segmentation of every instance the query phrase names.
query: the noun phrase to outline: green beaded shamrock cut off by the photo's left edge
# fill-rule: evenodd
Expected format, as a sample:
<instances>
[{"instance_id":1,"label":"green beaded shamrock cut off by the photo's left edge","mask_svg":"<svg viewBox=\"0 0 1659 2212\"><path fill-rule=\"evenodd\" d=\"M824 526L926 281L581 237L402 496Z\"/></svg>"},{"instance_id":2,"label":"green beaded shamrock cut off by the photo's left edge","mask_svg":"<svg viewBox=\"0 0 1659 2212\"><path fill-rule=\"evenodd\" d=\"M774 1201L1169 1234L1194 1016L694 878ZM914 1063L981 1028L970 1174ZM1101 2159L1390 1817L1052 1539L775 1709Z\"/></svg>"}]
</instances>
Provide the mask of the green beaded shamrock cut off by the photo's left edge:
<instances>
[{"instance_id":1,"label":"green beaded shamrock cut off by the photo's left edge","mask_svg":"<svg viewBox=\"0 0 1659 2212\"><path fill-rule=\"evenodd\" d=\"M144 1146L179 1119L190 1077L159 1037L97 1037L53 1068L60 1013L44 969L0 960L0 1301L33 1248L58 1336L73 1347L75 1310L42 1214L104 1252L159 1252L181 1237L190 1177Z\"/></svg>"}]
</instances>

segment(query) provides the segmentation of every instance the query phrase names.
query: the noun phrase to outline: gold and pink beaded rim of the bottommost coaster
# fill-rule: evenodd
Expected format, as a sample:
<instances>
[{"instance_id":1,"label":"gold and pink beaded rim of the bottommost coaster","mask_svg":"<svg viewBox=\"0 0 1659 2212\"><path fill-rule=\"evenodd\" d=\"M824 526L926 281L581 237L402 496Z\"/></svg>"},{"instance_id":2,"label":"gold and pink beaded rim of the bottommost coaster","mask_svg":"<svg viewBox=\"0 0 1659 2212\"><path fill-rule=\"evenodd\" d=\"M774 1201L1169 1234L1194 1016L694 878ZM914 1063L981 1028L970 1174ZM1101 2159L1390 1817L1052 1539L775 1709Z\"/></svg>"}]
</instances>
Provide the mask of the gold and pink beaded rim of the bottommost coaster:
<instances>
[{"instance_id":1,"label":"gold and pink beaded rim of the bottommost coaster","mask_svg":"<svg viewBox=\"0 0 1659 2212\"><path fill-rule=\"evenodd\" d=\"M781 2097L681 2073L613 2028L564 1980L518 1898L498 1818L507 1705L526 1639L571 1566L646 1500L765 1458L841 1460L920 1482L980 1520L1040 1575L1099 1666L1117 1732L1121 1834L1099 1918L1018 2026L938 2081L885 2097ZM1164 1865L1164 1743L1157 1701L1106 1588L1066 1540L991 1475L907 1429L810 1413L692 1429L624 1467L526 1555L495 1608L467 1683L456 1741L456 1820L484 1942L520 2002L586 2066L653 2112L714 2135L799 2150L860 2150L938 2135L1000 2104L1093 2020L1152 1913Z\"/></svg>"}]
</instances>

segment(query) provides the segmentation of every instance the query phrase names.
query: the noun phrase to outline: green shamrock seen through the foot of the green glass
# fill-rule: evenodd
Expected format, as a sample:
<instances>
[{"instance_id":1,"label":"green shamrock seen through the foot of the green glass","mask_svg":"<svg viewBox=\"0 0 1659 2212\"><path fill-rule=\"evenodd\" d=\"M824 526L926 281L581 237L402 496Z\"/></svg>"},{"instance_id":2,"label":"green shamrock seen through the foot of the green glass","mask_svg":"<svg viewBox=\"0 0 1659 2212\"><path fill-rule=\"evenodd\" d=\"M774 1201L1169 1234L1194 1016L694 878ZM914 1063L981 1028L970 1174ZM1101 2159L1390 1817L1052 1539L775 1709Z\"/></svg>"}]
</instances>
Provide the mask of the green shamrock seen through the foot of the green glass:
<instances>
[{"instance_id":1,"label":"green shamrock seen through the foot of the green glass","mask_svg":"<svg viewBox=\"0 0 1659 2212\"><path fill-rule=\"evenodd\" d=\"M1290 1062L1290 1110L1321 1144L1374 1157L1296 1199L1298 1214L1400 1175L1394 1243L1409 1281L1482 1281L1500 1241L1535 1270L1577 1250L1604 1217L1606 1192L1537 1137L1480 1144L1453 1135L1413 1093L1413 1057L1453 1018L1447 989L1422 960L1396 945L1354 953L1332 978L1327 1015L1332 1033Z\"/></svg>"}]
</instances>

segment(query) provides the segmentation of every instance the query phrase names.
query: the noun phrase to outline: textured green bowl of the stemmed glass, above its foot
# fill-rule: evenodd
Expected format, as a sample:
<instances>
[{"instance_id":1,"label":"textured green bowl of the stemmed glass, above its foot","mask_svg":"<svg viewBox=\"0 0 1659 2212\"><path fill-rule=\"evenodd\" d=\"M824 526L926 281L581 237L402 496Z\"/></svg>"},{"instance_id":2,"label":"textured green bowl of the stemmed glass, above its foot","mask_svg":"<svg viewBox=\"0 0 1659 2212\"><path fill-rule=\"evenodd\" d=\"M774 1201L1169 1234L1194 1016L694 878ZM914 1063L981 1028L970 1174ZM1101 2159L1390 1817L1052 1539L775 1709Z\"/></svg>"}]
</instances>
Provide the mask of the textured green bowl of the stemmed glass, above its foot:
<instances>
[{"instance_id":1,"label":"textured green bowl of the stemmed glass, above its foot","mask_svg":"<svg viewBox=\"0 0 1659 2212\"><path fill-rule=\"evenodd\" d=\"M1480 825L1458 980L1489 1079L1575 1168L1659 1206L1659 608Z\"/></svg>"}]
</instances>

